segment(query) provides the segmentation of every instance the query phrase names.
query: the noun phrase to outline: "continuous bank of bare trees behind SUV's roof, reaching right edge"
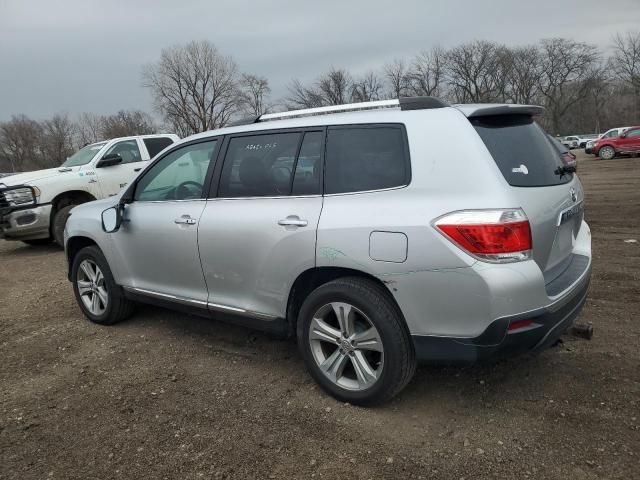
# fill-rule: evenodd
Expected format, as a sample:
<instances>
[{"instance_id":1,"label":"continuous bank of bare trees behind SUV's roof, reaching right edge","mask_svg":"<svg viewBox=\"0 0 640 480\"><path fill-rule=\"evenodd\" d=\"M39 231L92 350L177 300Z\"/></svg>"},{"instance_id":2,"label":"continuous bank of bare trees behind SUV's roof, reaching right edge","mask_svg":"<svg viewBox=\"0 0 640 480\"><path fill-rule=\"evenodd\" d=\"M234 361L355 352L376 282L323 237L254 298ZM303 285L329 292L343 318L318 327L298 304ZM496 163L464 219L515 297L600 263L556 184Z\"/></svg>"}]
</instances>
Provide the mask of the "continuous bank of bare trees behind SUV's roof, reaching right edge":
<instances>
[{"instance_id":1,"label":"continuous bank of bare trees behind SUV's roof, reaching right edge","mask_svg":"<svg viewBox=\"0 0 640 480\"><path fill-rule=\"evenodd\" d=\"M546 107L552 134L602 132L640 123L640 32L616 35L612 54L566 38L508 47L474 41L433 47L354 77L332 68L310 84L293 80L288 108L313 108L429 95L451 103L526 103Z\"/></svg>"}]
</instances>

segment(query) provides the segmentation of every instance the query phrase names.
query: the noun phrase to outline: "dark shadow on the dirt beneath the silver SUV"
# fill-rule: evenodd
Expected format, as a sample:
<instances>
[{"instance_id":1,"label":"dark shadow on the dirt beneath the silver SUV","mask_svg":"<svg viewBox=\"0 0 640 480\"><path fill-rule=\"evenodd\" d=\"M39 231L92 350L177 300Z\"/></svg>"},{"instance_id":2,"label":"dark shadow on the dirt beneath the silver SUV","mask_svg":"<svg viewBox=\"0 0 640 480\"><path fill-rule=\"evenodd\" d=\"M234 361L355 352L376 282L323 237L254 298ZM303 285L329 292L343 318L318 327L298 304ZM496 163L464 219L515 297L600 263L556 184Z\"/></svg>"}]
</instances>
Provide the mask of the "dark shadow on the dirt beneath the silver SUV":
<instances>
[{"instance_id":1,"label":"dark shadow on the dirt beneath the silver SUV","mask_svg":"<svg viewBox=\"0 0 640 480\"><path fill-rule=\"evenodd\" d=\"M116 328L122 333L132 329L136 335L146 332L156 340L171 338L172 343L182 342L185 346L195 343L201 346L203 353L224 353L261 363L261 359L269 358L269 368L281 370L282 375L291 372L308 375L295 339L278 338L215 318L140 305L129 320ZM565 344L561 342L539 354L524 354L491 363L421 365L413 380L392 403L402 405L402 408L415 408L441 402L443 398L450 401L452 407L474 401L535 401L545 395L545 385L571 374L573 361L569 356L559 354L566 353L567 343L572 342L566 338ZM311 377L308 380L311 382Z\"/></svg>"}]
</instances>

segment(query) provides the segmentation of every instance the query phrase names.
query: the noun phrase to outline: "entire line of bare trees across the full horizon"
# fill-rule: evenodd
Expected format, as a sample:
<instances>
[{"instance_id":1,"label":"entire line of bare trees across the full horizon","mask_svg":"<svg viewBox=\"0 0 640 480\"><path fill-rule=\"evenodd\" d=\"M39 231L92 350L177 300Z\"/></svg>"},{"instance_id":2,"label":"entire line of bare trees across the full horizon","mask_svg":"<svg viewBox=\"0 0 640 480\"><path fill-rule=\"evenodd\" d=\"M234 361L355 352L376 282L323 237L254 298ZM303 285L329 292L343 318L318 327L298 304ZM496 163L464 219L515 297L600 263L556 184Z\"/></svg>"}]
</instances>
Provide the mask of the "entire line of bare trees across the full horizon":
<instances>
[{"instance_id":1,"label":"entire line of bare trees across the full horizon","mask_svg":"<svg viewBox=\"0 0 640 480\"><path fill-rule=\"evenodd\" d=\"M107 138L171 131L181 137L270 111L430 95L451 103L529 103L547 109L552 134L602 132L640 124L640 32L617 34L611 53L566 38L509 47L478 40L432 47L377 71L331 68L311 82L293 79L271 98L267 78L243 73L208 41L162 50L142 69L160 122L141 111L66 114L0 123L0 172L58 166L74 150Z\"/></svg>"}]
</instances>

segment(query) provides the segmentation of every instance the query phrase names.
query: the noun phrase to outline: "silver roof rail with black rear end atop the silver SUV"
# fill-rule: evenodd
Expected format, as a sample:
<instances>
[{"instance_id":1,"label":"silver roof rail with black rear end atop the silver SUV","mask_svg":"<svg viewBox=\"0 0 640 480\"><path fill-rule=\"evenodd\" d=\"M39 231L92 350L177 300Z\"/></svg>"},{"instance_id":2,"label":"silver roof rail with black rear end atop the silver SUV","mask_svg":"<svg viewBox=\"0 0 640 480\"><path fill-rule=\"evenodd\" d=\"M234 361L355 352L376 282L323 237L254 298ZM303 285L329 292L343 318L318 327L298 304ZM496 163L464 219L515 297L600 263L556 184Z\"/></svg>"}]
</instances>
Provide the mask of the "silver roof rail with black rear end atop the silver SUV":
<instances>
[{"instance_id":1,"label":"silver roof rail with black rear end atop the silver SUV","mask_svg":"<svg viewBox=\"0 0 640 480\"><path fill-rule=\"evenodd\" d=\"M393 100L376 100L373 102L348 103L345 105L330 105L328 107L305 108L302 110L290 110L281 113L265 113L260 115L253 121L241 123L247 125L249 123L268 122L271 120L285 120L287 118L309 117L312 115L327 115L330 113L357 112L363 110L379 110L383 108L398 108L400 110L424 110L430 108L443 108L450 105L435 97L403 97Z\"/></svg>"}]
</instances>

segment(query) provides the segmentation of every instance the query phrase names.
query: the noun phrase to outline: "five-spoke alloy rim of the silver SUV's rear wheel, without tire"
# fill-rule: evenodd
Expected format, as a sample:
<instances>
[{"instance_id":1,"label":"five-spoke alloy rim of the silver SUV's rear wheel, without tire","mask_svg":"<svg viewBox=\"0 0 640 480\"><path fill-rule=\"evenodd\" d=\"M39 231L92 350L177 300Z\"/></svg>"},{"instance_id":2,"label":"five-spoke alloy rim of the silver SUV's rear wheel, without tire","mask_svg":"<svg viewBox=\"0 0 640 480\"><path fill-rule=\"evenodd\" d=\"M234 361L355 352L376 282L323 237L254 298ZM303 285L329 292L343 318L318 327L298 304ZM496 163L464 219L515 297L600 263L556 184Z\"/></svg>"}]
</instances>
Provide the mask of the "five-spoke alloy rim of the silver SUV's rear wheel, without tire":
<instances>
[{"instance_id":1,"label":"five-spoke alloy rim of the silver SUV's rear wheel, without tire","mask_svg":"<svg viewBox=\"0 0 640 480\"><path fill-rule=\"evenodd\" d=\"M347 390L366 390L380 378L384 348L378 330L355 306L331 302L313 316L309 344L322 373Z\"/></svg>"}]
</instances>

